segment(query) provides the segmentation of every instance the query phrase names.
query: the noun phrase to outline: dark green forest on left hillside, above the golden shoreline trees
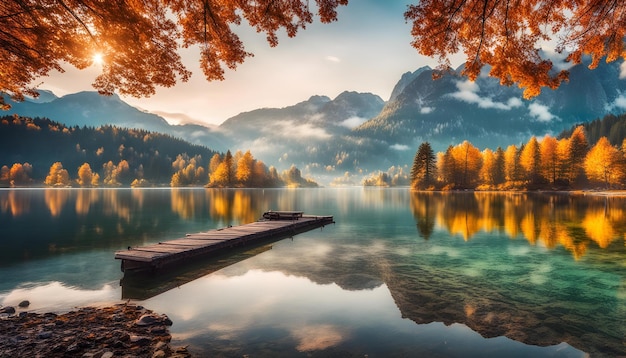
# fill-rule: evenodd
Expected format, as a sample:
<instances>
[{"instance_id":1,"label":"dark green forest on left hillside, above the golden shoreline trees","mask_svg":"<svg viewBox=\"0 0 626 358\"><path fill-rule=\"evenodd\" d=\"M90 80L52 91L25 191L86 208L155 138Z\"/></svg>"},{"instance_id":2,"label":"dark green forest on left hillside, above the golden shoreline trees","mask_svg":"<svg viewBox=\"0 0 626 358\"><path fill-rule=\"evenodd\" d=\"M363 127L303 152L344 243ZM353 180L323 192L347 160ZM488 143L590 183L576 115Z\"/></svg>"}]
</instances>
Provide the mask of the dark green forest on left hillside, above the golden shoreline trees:
<instances>
[{"instance_id":1,"label":"dark green forest on left hillside, above the golden shoreline trees","mask_svg":"<svg viewBox=\"0 0 626 358\"><path fill-rule=\"evenodd\" d=\"M30 178L42 183L50 167L61 162L70 176L88 163L103 184L130 185L134 179L169 184L179 156L211 158L215 151L182 139L114 126L66 127L46 118L0 117L2 163L30 163ZM203 183L207 177L203 175Z\"/></svg>"}]
</instances>

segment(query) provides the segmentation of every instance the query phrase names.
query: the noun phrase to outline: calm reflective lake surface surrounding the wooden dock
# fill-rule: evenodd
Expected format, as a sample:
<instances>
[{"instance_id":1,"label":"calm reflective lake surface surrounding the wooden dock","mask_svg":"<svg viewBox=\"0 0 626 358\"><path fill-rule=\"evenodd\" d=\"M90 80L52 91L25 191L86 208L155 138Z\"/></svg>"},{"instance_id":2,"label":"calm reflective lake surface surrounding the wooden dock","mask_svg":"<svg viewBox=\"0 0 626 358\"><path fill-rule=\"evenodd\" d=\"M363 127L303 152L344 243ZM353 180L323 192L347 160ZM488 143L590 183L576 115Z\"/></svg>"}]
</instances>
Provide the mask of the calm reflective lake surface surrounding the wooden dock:
<instances>
[{"instance_id":1,"label":"calm reflective lake surface surrounding the wooden dock","mask_svg":"<svg viewBox=\"0 0 626 358\"><path fill-rule=\"evenodd\" d=\"M336 224L124 277L116 250L257 220ZM3 189L0 304L131 299L196 356L626 355L626 198L407 188Z\"/></svg>"}]
</instances>

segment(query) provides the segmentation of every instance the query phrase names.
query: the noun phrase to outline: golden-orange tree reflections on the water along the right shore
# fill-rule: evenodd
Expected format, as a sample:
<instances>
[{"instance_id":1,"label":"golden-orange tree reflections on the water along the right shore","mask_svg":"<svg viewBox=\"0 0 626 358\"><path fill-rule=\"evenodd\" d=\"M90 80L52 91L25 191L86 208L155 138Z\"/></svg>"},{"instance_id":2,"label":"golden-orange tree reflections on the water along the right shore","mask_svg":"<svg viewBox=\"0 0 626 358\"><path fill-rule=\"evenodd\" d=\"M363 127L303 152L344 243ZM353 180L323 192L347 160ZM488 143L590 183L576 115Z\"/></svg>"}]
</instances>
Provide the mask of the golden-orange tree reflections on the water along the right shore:
<instances>
[{"instance_id":1,"label":"golden-orange tree reflections on the water along the right shore","mask_svg":"<svg viewBox=\"0 0 626 358\"><path fill-rule=\"evenodd\" d=\"M544 193L412 192L420 237L435 228L471 240L479 232L523 237L531 245L562 246L580 259L590 245L626 240L622 197Z\"/></svg>"}]
</instances>

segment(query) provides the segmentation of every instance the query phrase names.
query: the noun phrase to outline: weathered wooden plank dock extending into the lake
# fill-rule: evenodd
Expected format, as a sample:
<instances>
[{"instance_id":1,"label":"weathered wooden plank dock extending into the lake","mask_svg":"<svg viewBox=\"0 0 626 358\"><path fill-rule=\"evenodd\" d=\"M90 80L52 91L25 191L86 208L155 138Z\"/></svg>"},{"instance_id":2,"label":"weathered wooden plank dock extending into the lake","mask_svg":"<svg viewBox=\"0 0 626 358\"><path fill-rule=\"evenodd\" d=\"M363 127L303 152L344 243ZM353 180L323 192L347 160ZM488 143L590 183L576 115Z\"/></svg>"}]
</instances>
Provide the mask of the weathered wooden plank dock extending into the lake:
<instances>
[{"instance_id":1,"label":"weathered wooden plank dock extending into the lake","mask_svg":"<svg viewBox=\"0 0 626 358\"><path fill-rule=\"evenodd\" d=\"M304 215L300 211L269 211L259 221L234 227L187 234L183 238L131 247L115 253L122 271L155 271L192 258L222 253L246 243L290 237L327 224L332 216Z\"/></svg>"}]
</instances>

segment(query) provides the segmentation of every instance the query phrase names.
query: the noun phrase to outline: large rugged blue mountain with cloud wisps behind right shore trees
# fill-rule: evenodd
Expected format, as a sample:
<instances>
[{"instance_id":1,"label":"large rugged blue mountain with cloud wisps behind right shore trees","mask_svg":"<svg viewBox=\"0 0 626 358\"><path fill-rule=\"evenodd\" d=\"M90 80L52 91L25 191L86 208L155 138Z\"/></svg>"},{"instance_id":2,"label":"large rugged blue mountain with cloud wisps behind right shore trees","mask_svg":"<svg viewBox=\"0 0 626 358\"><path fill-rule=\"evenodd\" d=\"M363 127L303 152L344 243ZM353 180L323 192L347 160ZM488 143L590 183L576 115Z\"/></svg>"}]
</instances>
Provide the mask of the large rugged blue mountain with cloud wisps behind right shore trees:
<instances>
[{"instance_id":1,"label":"large rugged blue mountain with cloud wisps behind right shore trees","mask_svg":"<svg viewBox=\"0 0 626 358\"><path fill-rule=\"evenodd\" d=\"M465 139L495 149L532 135L555 135L576 123L623 112L618 104L626 81L620 79L620 65L603 63L593 71L574 66L569 83L544 89L532 100L486 75L470 82L460 75L462 68L437 80L431 69L421 68L404 74L381 113L355 128L354 135L411 148L430 141L436 150Z\"/></svg>"}]
</instances>

